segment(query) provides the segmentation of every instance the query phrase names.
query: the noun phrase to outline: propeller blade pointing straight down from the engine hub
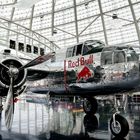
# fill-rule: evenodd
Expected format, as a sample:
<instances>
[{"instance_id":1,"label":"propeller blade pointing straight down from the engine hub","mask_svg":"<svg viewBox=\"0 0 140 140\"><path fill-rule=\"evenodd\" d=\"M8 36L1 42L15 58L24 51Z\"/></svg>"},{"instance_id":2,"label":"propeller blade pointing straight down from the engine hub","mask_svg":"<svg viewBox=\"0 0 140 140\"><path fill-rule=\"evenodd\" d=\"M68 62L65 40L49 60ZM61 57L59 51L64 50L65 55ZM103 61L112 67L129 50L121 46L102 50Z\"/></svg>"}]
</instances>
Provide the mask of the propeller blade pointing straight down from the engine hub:
<instances>
[{"instance_id":1,"label":"propeller blade pointing straight down from the engine hub","mask_svg":"<svg viewBox=\"0 0 140 140\"><path fill-rule=\"evenodd\" d=\"M12 127L14 116L13 77L10 77L10 86L5 102L5 125L7 129Z\"/></svg>"}]
</instances>

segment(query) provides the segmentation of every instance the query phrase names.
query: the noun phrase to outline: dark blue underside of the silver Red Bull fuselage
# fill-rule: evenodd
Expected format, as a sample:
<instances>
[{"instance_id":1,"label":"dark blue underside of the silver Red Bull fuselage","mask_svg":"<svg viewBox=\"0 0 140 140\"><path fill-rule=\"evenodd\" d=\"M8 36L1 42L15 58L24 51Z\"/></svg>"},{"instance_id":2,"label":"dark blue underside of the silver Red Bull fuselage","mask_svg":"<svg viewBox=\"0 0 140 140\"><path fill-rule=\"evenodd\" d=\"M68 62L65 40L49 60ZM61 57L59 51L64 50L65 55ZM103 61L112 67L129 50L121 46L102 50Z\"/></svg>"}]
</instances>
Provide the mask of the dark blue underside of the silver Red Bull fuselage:
<instances>
[{"instance_id":1,"label":"dark blue underside of the silver Red Bull fuselage","mask_svg":"<svg viewBox=\"0 0 140 140\"><path fill-rule=\"evenodd\" d=\"M65 85L63 87L54 88L31 88L33 93L50 95L75 95L75 96L97 96L97 95L109 95L120 92L128 92L134 90L136 86L140 84L140 79L127 79L122 82L100 82L100 83L74 83Z\"/></svg>"}]
</instances>

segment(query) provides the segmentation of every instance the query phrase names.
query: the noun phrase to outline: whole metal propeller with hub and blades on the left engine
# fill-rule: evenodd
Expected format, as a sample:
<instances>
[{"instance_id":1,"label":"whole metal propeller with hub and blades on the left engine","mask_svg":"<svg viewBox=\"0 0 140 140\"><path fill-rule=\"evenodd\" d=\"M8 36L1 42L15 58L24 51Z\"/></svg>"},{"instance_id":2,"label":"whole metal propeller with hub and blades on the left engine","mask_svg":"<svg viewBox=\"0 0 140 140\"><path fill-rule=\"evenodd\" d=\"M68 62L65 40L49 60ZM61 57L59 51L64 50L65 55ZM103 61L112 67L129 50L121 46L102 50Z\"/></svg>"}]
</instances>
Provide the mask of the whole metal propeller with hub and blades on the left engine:
<instances>
[{"instance_id":1,"label":"whole metal propeller with hub and blades on the left engine","mask_svg":"<svg viewBox=\"0 0 140 140\"><path fill-rule=\"evenodd\" d=\"M14 87L15 77L18 75L19 71L21 71L25 68L31 67L31 66L41 64L41 63L49 60L50 58L52 58L54 55L55 55L55 52L39 56L39 57L33 59L32 61L30 61L29 63L21 66L20 68L15 68L12 65L7 67L3 63L0 63L0 65L3 66L3 68L5 68L6 71L8 72L8 75L10 78L10 86L8 89L8 94L7 94L6 103L5 103L5 125L6 125L7 129L11 128L12 122L13 122L13 116L14 116L14 89L13 89L13 87Z\"/></svg>"}]
</instances>

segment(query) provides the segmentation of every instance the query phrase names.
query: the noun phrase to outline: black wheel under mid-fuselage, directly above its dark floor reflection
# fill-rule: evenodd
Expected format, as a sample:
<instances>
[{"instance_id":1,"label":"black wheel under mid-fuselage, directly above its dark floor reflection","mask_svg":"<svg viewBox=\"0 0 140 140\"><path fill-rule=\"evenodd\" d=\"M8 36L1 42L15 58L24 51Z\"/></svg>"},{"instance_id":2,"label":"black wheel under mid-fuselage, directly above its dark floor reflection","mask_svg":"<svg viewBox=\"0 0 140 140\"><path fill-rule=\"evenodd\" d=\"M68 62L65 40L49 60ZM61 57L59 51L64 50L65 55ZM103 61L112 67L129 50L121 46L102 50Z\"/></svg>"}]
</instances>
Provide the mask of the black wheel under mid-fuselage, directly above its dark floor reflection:
<instances>
[{"instance_id":1,"label":"black wheel under mid-fuselage, directly above its dark floor reflection","mask_svg":"<svg viewBox=\"0 0 140 140\"><path fill-rule=\"evenodd\" d=\"M95 98L86 98L83 102L83 109L86 114L95 114L97 112L98 103Z\"/></svg>"}]
</instances>

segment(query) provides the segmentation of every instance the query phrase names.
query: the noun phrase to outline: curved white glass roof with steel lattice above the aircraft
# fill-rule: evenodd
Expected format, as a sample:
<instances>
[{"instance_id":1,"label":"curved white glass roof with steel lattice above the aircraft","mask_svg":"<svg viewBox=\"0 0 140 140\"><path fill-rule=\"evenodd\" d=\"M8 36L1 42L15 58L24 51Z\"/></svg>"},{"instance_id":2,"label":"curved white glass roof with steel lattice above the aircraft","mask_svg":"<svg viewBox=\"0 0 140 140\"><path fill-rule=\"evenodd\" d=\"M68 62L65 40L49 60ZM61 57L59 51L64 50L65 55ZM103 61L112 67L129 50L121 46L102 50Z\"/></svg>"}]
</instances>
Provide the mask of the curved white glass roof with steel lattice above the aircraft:
<instances>
[{"instance_id":1,"label":"curved white glass roof with steel lattice above the aircraft","mask_svg":"<svg viewBox=\"0 0 140 140\"><path fill-rule=\"evenodd\" d=\"M47 51L87 39L139 45L139 13L140 0L0 0L0 43L46 45ZM36 33L39 42L31 39Z\"/></svg>"}]
</instances>

